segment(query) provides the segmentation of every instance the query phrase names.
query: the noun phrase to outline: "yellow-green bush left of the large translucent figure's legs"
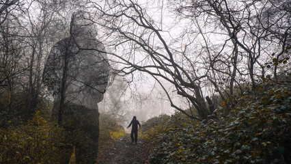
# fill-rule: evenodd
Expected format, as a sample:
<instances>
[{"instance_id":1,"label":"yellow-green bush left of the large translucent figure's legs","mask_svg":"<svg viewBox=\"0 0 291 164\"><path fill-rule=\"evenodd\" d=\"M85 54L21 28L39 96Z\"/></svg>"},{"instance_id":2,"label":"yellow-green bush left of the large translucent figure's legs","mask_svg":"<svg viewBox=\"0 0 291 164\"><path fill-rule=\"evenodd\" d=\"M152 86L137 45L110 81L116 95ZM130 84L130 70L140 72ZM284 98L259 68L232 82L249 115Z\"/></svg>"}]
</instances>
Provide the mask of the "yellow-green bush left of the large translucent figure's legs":
<instances>
[{"instance_id":1,"label":"yellow-green bush left of the large translucent figure's legs","mask_svg":"<svg viewBox=\"0 0 291 164\"><path fill-rule=\"evenodd\" d=\"M61 163L67 150L63 128L37 111L27 124L0 129L0 163Z\"/></svg>"}]
</instances>

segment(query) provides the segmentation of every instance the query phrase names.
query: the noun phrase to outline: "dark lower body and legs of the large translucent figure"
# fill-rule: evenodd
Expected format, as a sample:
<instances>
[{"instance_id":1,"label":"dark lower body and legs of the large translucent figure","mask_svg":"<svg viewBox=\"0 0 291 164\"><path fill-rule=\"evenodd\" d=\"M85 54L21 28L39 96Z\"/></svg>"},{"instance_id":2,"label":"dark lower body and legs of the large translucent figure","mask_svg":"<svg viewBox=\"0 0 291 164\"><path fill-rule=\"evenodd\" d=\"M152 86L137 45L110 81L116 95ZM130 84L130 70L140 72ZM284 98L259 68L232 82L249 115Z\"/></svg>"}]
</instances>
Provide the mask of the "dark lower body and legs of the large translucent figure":
<instances>
[{"instance_id":1,"label":"dark lower body and legs of the large translucent figure","mask_svg":"<svg viewBox=\"0 0 291 164\"><path fill-rule=\"evenodd\" d=\"M99 113L82 105L70 104L64 109L64 150L76 148L77 163L94 163L98 154ZM66 163L70 154L66 156Z\"/></svg>"}]
</instances>

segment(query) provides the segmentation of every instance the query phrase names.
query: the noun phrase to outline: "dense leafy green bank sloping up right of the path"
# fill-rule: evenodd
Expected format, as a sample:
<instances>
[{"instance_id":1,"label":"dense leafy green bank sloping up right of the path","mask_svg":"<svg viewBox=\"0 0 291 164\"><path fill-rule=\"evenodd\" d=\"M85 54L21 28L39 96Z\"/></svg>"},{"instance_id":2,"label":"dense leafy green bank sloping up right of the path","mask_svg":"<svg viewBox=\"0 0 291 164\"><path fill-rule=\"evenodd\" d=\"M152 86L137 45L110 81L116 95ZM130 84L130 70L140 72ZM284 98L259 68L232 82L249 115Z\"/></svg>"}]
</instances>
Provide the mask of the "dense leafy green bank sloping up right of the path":
<instances>
[{"instance_id":1,"label":"dense leafy green bank sloping up right of the path","mask_svg":"<svg viewBox=\"0 0 291 164\"><path fill-rule=\"evenodd\" d=\"M257 90L262 88L258 87ZM197 122L180 113L146 131L152 163L290 163L290 88L238 98L228 115ZM221 107L220 111L223 111Z\"/></svg>"}]
</instances>

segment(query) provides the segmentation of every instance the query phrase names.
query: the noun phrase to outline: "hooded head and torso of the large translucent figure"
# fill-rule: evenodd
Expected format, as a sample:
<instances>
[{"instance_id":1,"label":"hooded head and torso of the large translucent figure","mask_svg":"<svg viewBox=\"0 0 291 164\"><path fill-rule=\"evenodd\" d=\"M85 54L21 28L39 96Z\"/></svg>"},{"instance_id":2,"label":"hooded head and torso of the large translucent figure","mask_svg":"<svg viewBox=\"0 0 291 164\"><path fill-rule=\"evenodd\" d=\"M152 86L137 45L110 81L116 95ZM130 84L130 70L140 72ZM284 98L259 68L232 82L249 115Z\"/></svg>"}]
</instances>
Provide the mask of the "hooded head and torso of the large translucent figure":
<instances>
[{"instance_id":1,"label":"hooded head and torso of the large translucent figure","mask_svg":"<svg viewBox=\"0 0 291 164\"><path fill-rule=\"evenodd\" d=\"M75 12L70 36L51 49L44 68L44 83L55 95L55 102L74 102L98 109L97 103L102 100L109 79L109 63L96 33L90 15Z\"/></svg>"}]
</instances>

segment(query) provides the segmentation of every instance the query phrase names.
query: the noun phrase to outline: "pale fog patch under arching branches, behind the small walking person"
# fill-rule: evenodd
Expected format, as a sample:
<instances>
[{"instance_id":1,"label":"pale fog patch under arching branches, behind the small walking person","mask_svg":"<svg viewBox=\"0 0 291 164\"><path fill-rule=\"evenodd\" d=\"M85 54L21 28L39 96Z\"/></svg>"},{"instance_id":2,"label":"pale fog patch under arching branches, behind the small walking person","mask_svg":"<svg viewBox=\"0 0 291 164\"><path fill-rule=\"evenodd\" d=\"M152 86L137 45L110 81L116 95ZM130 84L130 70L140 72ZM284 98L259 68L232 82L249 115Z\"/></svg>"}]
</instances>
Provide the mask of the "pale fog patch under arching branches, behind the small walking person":
<instances>
[{"instance_id":1,"label":"pale fog patch under arching branches, behind the small walking person","mask_svg":"<svg viewBox=\"0 0 291 164\"><path fill-rule=\"evenodd\" d=\"M146 77L146 74L144 76ZM175 105L184 109L188 107L169 83L164 81L163 85L171 94L171 100ZM174 107L171 107L163 88L152 79L147 81L139 79L136 83L126 83L123 77L117 77L108 86L104 99L98 107L100 113L115 115L124 126L129 124L133 116L137 116L137 120L144 122L154 116L171 115L176 111Z\"/></svg>"}]
</instances>

